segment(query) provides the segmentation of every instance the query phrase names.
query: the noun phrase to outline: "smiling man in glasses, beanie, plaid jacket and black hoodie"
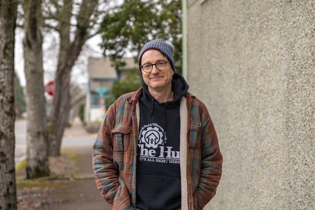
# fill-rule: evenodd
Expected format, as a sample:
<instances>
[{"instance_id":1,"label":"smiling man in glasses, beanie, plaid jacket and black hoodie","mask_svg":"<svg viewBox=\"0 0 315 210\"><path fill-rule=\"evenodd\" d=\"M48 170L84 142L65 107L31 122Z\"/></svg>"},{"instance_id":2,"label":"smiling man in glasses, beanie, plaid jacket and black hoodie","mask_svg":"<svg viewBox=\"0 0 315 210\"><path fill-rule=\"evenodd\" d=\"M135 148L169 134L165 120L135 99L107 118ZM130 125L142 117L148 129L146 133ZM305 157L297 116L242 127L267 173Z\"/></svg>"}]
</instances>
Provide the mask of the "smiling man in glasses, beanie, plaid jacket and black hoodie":
<instances>
[{"instance_id":1,"label":"smiling man in glasses, beanie, plaid jacket and black hoodie","mask_svg":"<svg viewBox=\"0 0 315 210\"><path fill-rule=\"evenodd\" d=\"M203 209L222 173L207 108L187 92L164 40L144 45L139 70L142 88L112 104L96 137L97 187L112 209Z\"/></svg>"}]
</instances>

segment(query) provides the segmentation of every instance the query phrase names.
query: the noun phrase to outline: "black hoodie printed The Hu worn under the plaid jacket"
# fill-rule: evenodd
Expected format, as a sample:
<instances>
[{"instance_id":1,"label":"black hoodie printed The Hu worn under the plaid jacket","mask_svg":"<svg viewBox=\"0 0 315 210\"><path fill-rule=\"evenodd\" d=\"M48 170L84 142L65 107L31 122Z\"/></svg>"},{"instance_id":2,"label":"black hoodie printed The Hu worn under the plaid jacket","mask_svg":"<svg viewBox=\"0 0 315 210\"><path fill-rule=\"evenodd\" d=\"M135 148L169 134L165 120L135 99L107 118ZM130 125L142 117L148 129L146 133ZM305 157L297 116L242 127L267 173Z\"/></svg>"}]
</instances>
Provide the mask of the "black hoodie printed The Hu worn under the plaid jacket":
<instances>
[{"instance_id":1,"label":"black hoodie printed The Hu worn under the plaid jacket","mask_svg":"<svg viewBox=\"0 0 315 210\"><path fill-rule=\"evenodd\" d=\"M174 210L181 206L179 109L188 85L175 73L173 100L159 103L143 79L141 83L136 206L141 210Z\"/></svg>"}]
</instances>

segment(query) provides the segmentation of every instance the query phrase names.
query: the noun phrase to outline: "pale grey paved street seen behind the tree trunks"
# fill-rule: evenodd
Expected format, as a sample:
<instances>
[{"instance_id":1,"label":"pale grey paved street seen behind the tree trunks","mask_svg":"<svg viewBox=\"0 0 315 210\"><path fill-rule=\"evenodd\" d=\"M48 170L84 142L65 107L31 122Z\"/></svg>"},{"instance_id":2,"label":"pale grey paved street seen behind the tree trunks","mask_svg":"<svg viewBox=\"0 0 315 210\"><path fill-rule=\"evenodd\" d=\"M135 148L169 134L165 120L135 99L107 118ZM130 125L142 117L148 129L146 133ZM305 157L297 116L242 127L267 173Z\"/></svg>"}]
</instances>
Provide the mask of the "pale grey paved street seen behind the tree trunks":
<instances>
[{"instance_id":1,"label":"pale grey paved street seen behind the tree trunks","mask_svg":"<svg viewBox=\"0 0 315 210\"><path fill-rule=\"evenodd\" d=\"M95 142L95 136L80 131L83 127L79 125L66 129L62 138L61 147L69 146L91 146ZM77 131L76 131L77 130ZM15 121L15 158L16 161L24 158L26 155L26 120ZM67 134L70 133L70 134ZM77 134L76 134L77 133Z\"/></svg>"}]
</instances>

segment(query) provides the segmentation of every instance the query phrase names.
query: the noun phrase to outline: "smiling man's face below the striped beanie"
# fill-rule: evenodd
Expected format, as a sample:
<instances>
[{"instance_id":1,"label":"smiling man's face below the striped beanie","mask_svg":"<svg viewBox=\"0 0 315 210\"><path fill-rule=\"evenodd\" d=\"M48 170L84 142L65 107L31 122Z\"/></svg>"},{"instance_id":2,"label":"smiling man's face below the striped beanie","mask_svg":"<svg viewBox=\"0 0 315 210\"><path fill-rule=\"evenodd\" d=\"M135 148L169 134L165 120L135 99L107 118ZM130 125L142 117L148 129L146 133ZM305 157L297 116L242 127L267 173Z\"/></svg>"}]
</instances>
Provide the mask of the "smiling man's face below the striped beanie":
<instances>
[{"instance_id":1,"label":"smiling man's face below the striped beanie","mask_svg":"<svg viewBox=\"0 0 315 210\"><path fill-rule=\"evenodd\" d=\"M148 50L146 51L141 58L141 66L145 63L154 64L158 61L165 61L167 62L168 59L158 50ZM166 68L164 70L158 70L157 67L154 65L152 66L151 72L145 72L141 68L141 73L144 82L148 85L149 88L152 89L163 89L170 85L172 81L172 77L174 71L170 62L166 63Z\"/></svg>"}]
</instances>

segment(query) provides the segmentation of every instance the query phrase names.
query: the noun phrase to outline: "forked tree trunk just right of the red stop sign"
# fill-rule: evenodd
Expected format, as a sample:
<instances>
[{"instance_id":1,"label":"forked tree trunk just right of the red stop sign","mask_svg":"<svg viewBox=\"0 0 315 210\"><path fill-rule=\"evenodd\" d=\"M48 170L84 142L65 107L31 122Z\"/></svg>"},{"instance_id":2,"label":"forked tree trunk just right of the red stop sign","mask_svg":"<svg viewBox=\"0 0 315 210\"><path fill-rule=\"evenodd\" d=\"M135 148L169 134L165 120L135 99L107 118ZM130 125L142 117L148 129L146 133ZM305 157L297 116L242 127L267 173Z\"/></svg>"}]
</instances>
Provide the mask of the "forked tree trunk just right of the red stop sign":
<instances>
[{"instance_id":1,"label":"forked tree trunk just right of the red stop sign","mask_svg":"<svg viewBox=\"0 0 315 210\"><path fill-rule=\"evenodd\" d=\"M70 111L70 75L85 41L88 39L90 17L97 8L98 0L83 0L77 16L75 38L70 42L71 1L65 1L64 16L59 21L60 51L55 76L54 101L49 122L49 155L59 156L60 145Z\"/></svg>"}]
</instances>

